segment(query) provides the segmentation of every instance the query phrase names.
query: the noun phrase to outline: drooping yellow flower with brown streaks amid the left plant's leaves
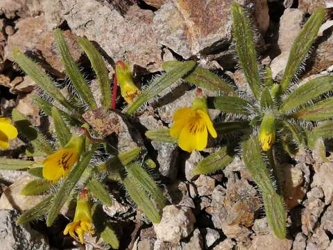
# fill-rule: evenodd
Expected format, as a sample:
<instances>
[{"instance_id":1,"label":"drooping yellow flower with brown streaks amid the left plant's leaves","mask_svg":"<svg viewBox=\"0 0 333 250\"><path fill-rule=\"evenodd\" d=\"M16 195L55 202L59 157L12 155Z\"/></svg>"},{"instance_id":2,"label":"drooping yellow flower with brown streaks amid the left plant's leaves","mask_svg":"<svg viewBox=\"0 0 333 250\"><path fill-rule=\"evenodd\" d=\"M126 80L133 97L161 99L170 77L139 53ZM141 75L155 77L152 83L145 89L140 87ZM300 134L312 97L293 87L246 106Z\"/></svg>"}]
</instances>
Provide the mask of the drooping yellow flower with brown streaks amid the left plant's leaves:
<instances>
[{"instance_id":1,"label":"drooping yellow flower with brown streaks amid the left plant's leaves","mask_svg":"<svg viewBox=\"0 0 333 250\"><path fill-rule=\"evenodd\" d=\"M65 147L59 149L43 161L43 177L46 180L57 182L66 176L80 156L83 147L83 136L73 135Z\"/></svg>"}]
</instances>

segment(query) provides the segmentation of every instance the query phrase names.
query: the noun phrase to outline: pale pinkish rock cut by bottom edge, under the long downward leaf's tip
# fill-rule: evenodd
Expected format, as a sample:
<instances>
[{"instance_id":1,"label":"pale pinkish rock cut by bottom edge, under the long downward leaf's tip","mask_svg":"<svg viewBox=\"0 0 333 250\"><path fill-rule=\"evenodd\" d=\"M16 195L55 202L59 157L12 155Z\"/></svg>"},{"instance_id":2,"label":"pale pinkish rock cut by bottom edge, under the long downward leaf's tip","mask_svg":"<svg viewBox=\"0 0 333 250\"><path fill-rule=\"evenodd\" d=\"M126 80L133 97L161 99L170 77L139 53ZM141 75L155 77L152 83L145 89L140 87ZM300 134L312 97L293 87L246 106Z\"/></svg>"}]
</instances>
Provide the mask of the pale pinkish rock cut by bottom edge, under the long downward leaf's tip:
<instances>
[{"instance_id":1,"label":"pale pinkish rock cut by bottom edge, under the long downward leaf's tip","mask_svg":"<svg viewBox=\"0 0 333 250\"><path fill-rule=\"evenodd\" d=\"M253 237L253 244L250 250L289 250L293 245L292 240L284 239L279 240L275 235L255 235Z\"/></svg>"}]
</instances>

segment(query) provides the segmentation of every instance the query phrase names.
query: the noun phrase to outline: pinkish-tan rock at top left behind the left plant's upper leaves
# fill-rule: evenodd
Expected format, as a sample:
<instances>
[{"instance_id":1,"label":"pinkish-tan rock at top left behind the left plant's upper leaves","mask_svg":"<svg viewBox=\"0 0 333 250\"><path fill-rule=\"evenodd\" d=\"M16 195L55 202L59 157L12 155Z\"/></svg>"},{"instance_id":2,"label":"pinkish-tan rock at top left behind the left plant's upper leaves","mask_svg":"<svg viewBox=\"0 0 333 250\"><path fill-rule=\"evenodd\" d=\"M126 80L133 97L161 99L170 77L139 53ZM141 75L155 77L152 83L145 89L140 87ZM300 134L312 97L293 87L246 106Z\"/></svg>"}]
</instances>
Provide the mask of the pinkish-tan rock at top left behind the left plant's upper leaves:
<instances>
[{"instance_id":1,"label":"pinkish-tan rock at top left behind the left plant's upper leaves","mask_svg":"<svg viewBox=\"0 0 333 250\"><path fill-rule=\"evenodd\" d=\"M39 63L49 70L52 74L63 78L65 75L62 63L58 58L58 53L54 49L55 34L53 31L46 31L45 18L43 15L38 17L27 17L19 19L15 28L17 32L8 37L8 44L5 48L5 58L12 58L12 49L17 47L23 53L27 51L33 52L35 58L38 58ZM71 51L75 61L78 61L82 55L82 51L76 42L76 35L71 31L64 31L63 35ZM36 55L37 53L37 55ZM40 55L38 54L40 53ZM42 59L40 58L42 57Z\"/></svg>"}]
</instances>

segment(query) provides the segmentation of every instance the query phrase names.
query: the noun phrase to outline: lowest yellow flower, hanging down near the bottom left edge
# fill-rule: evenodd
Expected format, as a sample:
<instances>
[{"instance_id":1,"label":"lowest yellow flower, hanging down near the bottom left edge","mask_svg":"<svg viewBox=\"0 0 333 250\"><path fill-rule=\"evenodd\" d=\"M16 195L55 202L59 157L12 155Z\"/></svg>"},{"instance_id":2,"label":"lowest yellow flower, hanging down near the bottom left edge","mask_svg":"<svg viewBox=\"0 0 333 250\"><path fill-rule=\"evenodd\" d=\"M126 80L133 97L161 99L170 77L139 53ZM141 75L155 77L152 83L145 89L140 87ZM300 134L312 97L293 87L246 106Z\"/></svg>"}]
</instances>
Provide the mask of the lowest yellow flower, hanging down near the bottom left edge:
<instances>
[{"instance_id":1,"label":"lowest yellow flower, hanging down near the bottom left edge","mask_svg":"<svg viewBox=\"0 0 333 250\"><path fill-rule=\"evenodd\" d=\"M64 230L64 235L69 233L72 238L81 244L84 244L85 240L83 236L85 235L85 232L95 233L94 226L92 225L92 214L89 199L87 197L87 190L83 190L78 197L74 220L67 224Z\"/></svg>"}]
</instances>

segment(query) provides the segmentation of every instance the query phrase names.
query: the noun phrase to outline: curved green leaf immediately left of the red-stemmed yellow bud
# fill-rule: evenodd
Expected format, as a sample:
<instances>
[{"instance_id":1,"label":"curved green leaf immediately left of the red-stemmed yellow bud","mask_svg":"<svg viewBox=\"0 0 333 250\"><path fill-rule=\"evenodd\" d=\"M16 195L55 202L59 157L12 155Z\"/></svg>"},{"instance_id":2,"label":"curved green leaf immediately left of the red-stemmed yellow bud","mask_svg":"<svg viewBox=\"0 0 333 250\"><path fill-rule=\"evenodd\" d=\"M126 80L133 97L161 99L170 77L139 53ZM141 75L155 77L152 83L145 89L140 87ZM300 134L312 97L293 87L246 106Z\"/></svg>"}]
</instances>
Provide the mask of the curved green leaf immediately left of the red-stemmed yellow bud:
<instances>
[{"instance_id":1,"label":"curved green leaf immediately left of the red-stemmed yellow bud","mask_svg":"<svg viewBox=\"0 0 333 250\"><path fill-rule=\"evenodd\" d=\"M110 108L111 106L111 86L109 80L109 72L106 67L101 54L94 47L92 42L87 40L86 38L78 38L78 44L87 54L90 63L92 63L92 68L96 73L97 80L99 81L99 88L101 89L101 94L103 97L103 106L105 108Z\"/></svg>"}]
</instances>

